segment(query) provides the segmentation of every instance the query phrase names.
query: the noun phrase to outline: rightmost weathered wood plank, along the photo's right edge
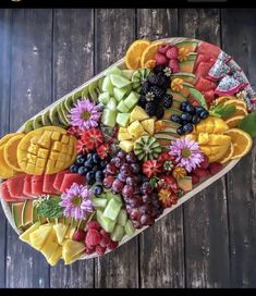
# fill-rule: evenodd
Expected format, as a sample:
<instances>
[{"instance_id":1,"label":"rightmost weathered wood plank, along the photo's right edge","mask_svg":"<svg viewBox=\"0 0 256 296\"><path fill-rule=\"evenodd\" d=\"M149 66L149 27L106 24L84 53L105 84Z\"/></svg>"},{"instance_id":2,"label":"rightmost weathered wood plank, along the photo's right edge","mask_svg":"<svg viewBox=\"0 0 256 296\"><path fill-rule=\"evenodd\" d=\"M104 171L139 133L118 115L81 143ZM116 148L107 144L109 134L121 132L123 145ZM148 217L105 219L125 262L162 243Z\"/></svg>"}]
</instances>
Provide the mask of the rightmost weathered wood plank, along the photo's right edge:
<instances>
[{"instance_id":1,"label":"rightmost weathered wood plank, along the photo's right edge","mask_svg":"<svg viewBox=\"0 0 256 296\"><path fill-rule=\"evenodd\" d=\"M222 11L223 49L256 82L256 10ZM231 286L256 286L256 147L228 174Z\"/></svg>"}]
</instances>

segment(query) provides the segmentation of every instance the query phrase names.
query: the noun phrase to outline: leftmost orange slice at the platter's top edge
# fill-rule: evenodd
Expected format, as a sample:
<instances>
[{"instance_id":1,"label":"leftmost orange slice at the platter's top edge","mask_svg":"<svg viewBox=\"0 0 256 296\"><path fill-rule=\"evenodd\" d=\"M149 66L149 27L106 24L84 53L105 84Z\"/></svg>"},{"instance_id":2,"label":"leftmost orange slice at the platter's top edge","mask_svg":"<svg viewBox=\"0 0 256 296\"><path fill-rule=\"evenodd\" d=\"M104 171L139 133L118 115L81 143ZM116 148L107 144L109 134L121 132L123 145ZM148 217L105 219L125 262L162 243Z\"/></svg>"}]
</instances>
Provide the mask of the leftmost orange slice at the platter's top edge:
<instances>
[{"instance_id":1,"label":"leftmost orange slice at the platter's top edge","mask_svg":"<svg viewBox=\"0 0 256 296\"><path fill-rule=\"evenodd\" d=\"M137 70L141 67L142 54L149 45L149 40L138 39L129 47L125 54L125 65L127 69Z\"/></svg>"}]
</instances>

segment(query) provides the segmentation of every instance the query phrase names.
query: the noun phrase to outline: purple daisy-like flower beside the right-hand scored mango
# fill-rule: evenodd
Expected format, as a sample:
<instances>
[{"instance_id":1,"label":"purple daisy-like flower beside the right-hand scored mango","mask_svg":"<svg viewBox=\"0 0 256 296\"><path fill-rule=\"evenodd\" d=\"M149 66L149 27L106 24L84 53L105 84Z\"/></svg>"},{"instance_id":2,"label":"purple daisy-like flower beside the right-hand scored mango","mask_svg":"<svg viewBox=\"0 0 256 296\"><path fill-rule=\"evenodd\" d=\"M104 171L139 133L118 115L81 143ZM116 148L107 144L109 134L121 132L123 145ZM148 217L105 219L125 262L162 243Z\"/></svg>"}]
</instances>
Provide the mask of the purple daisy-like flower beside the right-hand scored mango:
<instances>
[{"instance_id":1,"label":"purple daisy-like flower beside the right-hand scored mango","mask_svg":"<svg viewBox=\"0 0 256 296\"><path fill-rule=\"evenodd\" d=\"M178 166L184 166L188 173L204 160L199 145L188 137L173 140L169 153L175 158Z\"/></svg>"}]
</instances>

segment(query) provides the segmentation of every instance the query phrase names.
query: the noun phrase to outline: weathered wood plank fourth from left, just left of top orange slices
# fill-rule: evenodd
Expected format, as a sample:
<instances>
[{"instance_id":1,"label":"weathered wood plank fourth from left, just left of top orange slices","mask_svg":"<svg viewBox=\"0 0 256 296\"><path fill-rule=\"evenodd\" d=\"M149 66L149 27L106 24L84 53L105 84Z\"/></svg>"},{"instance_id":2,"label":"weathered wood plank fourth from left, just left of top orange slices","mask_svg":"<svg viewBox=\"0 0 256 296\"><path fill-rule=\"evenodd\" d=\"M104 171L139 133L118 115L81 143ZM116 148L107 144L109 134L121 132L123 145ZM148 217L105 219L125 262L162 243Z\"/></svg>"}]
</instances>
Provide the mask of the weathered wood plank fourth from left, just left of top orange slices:
<instances>
[{"instance_id":1,"label":"weathered wood plank fourth from left, just left of top orange slices","mask_svg":"<svg viewBox=\"0 0 256 296\"><path fill-rule=\"evenodd\" d=\"M95 11L95 69L100 72L124 55L135 38L135 11L105 9ZM96 287L137 287L137 239L117 251L96 259Z\"/></svg>"}]
</instances>

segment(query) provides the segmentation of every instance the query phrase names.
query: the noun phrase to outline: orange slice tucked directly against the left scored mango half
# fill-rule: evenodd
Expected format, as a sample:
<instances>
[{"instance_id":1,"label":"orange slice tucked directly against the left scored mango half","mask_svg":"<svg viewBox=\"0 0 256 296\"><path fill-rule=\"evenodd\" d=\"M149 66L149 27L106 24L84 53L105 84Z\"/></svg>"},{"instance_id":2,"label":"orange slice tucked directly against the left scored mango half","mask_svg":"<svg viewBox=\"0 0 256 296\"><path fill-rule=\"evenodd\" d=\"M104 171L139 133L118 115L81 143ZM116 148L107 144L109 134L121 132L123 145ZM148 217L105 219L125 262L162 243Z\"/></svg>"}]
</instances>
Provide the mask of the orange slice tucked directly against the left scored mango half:
<instances>
[{"instance_id":1,"label":"orange slice tucked directly against the left scored mango half","mask_svg":"<svg viewBox=\"0 0 256 296\"><path fill-rule=\"evenodd\" d=\"M3 157L7 164L16 172L22 172L16 157L17 145L22 140L25 134L17 133L5 145L3 149Z\"/></svg>"}]
</instances>

